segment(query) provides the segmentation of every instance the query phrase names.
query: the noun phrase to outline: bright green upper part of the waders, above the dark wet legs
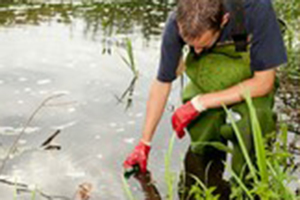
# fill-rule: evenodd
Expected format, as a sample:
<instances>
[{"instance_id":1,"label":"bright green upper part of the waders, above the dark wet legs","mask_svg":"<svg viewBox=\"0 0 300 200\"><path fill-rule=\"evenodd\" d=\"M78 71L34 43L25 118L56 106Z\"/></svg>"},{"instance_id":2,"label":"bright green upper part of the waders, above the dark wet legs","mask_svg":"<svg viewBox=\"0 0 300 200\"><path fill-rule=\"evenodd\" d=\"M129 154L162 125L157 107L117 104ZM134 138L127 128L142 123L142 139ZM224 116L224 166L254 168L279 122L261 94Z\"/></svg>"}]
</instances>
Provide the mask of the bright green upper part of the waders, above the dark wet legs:
<instances>
[{"instance_id":1,"label":"bright green upper part of the waders, above the dark wet legs","mask_svg":"<svg viewBox=\"0 0 300 200\"><path fill-rule=\"evenodd\" d=\"M211 52L196 58L192 54L186 60L186 73L190 79L183 94L183 102L191 100L198 94L224 90L253 76L250 70L249 52L236 52L234 45L215 47ZM272 112L274 92L265 97L254 98L258 120L264 134L275 130L275 119ZM253 155L253 140L250 116L246 102L230 106L241 119L237 126L242 133L250 155ZM223 108L210 109L193 121L187 128L191 141L195 145L192 151L197 154L209 154L213 147L203 145L207 142L230 140L233 143L232 167L239 174L245 163L232 126L226 123ZM201 144L202 143L202 144Z\"/></svg>"}]
</instances>

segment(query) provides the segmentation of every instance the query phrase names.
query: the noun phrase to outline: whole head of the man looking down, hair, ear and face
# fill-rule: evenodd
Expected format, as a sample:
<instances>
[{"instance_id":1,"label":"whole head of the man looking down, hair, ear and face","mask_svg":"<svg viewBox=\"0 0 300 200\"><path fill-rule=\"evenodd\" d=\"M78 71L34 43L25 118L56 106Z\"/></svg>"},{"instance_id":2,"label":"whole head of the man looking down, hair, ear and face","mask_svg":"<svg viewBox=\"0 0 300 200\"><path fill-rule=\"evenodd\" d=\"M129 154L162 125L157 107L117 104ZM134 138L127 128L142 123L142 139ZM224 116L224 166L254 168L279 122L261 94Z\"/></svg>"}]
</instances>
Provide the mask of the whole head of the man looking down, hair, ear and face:
<instances>
[{"instance_id":1,"label":"whole head of the man looking down, hair, ear and face","mask_svg":"<svg viewBox=\"0 0 300 200\"><path fill-rule=\"evenodd\" d=\"M228 19L222 0L178 0L176 20L180 35L196 53L213 46Z\"/></svg>"}]
</instances>

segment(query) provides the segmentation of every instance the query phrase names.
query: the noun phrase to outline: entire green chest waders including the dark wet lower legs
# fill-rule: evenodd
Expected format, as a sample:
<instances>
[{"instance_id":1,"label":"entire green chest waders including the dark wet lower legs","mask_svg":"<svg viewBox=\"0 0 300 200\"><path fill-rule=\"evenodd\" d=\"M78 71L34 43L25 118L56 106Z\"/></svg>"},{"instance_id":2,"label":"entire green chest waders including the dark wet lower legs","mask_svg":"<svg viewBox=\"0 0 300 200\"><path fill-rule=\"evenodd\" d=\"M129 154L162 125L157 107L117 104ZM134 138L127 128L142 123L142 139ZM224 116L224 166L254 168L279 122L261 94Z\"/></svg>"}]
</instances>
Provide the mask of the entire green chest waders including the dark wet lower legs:
<instances>
[{"instance_id":1,"label":"entire green chest waders including the dark wet lower legs","mask_svg":"<svg viewBox=\"0 0 300 200\"><path fill-rule=\"evenodd\" d=\"M250 70L249 52L236 52L234 45L218 46L211 52L196 58L192 54L186 59L186 74L190 81L183 92L183 102L191 100L198 94L224 90L253 76ZM264 134L275 130L275 117L272 112L274 92L265 97L254 98L258 120ZM238 103L229 108L238 113L241 119L236 122L247 150L254 157L254 144L251 131L250 116L246 102ZM238 175L245 175L245 159L239 147L235 133L230 124L226 123L226 113L223 108L210 109L200 114L187 130L191 137L192 148L185 156L185 173L179 183L181 199L194 199L189 196L191 187L198 177L208 187L216 187L215 193L220 200L229 199L230 186L222 180L226 152L206 145L210 142L227 141L233 144L232 169ZM204 145L203 145L204 144Z\"/></svg>"}]
</instances>

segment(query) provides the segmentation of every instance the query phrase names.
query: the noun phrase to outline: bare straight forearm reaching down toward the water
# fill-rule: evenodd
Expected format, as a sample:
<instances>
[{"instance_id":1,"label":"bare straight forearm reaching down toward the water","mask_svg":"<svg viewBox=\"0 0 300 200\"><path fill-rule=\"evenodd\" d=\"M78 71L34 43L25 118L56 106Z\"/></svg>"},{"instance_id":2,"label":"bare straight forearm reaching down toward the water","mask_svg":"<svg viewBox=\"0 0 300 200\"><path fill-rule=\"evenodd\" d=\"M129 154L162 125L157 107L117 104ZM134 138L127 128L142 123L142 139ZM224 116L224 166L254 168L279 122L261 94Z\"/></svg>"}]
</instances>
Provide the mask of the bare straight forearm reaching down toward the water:
<instances>
[{"instance_id":1,"label":"bare straight forearm reaching down toward the water","mask_svg":"<svg viewBox=\"0 0 300 200\"><path fill-rule=\"evenodd\" d=\"M155 79L151 85L147 102L146 119L143 127L142 141L150 143L157 124L164 112L172 83Z\"/></svg>"}]
</instances>

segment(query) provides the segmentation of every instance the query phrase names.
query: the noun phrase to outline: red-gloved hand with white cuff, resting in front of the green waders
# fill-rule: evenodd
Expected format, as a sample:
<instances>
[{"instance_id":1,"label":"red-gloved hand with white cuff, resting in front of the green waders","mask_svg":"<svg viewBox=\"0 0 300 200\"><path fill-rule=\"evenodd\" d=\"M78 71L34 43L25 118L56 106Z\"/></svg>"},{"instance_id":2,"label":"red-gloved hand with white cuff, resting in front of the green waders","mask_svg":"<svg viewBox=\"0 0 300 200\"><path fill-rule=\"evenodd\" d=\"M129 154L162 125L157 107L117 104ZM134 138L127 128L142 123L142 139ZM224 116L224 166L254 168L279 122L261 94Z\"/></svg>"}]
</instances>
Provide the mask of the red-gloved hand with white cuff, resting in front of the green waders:
<instances>
[{"instance_id":1,"label":"red-gloved hand with white cuff, resting in front of the green waders","mask_svg":"<svg viewBox=\"0 0 300 200\"><path fill-rule=\"evenodd\" d=\"M175 111L172 116L172 125L179 139L185 135L184 128L204 110L206 109L197 96Z\"/></svg>"}]
</instances>

